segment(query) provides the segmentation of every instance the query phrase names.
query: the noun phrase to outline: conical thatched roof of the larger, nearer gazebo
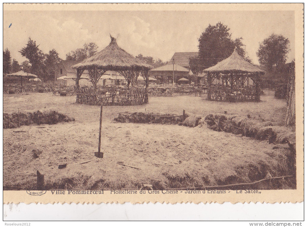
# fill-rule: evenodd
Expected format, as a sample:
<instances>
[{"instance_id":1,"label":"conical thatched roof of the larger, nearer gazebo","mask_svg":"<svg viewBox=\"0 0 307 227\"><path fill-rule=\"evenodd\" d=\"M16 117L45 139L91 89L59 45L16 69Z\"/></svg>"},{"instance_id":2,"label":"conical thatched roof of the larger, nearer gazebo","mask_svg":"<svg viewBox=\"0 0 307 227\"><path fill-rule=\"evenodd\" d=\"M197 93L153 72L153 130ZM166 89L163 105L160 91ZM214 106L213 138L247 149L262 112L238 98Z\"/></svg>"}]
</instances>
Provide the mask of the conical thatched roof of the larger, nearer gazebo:
<instances>
[{"instance_id":1,"label":"conical thatched roof of the larger, nearer gazebo","mask_svg":"<svg viewBox=\"0 0 307 227\"><path fill-rule=\"evenodd\" d=\"M127 70L129 68L151 69L152 66L136 59L125 50L121 49L116 39L111 36L111 43L94 56L85 59L83 62L73 66L73 68L89 69L97 67L104 70Z\"/></svg>"}]
</instances>

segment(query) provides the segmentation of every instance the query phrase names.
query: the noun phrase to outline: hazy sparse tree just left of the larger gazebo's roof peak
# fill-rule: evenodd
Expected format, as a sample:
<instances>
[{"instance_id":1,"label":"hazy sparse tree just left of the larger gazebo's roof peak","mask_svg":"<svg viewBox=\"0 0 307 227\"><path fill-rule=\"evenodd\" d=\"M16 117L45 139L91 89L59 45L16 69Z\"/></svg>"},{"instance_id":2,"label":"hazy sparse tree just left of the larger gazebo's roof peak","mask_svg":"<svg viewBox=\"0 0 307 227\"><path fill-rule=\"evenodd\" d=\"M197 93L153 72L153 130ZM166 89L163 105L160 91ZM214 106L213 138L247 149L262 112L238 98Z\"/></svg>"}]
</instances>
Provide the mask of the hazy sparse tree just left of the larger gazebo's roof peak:
<instances>
[{"instance_id":1,"label":"hazy sparse tree just left of the larger gazebo's roof peak","mask_svg":"<svg viewBox=\"0 0 307 227\"><path fill-rule=\"evenodd\" d=\"M70 51L66 54L68 61L83 61L97 53L98 46L95 43L84 44L83 48L78 48L75 51Z\"/></svg>"}]
</instances>

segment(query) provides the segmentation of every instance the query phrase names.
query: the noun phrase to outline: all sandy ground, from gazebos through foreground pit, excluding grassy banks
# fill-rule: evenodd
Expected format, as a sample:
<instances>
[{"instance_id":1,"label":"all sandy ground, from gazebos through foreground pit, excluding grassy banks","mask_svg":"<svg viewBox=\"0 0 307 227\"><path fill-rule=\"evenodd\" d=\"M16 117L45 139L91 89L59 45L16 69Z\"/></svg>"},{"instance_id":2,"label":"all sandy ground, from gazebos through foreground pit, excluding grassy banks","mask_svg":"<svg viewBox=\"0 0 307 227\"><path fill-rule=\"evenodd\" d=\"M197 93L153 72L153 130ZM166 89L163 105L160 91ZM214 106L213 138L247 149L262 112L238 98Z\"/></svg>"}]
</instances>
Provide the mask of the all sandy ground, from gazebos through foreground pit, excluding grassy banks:
<instances>
[{"instance_id":1,"label":"all sandy ground, from gazebos through foreground pit, excluding grassy banks","mask_svg":"<svg viewBox=\"0 0 307 227\"><path fill-rule=\"evenodd\" d=\"M262 96L260 103L229 104L204 97L150 97L149 104L130 107L104 107L102 152L97 151L99 106L74 104L74 97L52 94L4 95L4 112L55 109L76 118L73 123L23 126L3 130L3 185L31 188L36 170L45 174L51 188L137 189L144 183L154 189L194 188L206 185L252 182L267 174L286 174L282 163L285 146L274 146L207 127L113 123L120 111L161 113L251 114L282 124L284 100ZM46 107L46 108L45 108ZM238 111L239 110L239 111ZM33 152L40 153L35 157ZM83 161L92 160L85 164ZM118 164L122 162L139 169ZM59 164L67 164L58 169ZM286 185L286 184L285 184ZM257 187L264 187L258 185ZM278 188L287 186L276 186Z\"/></svg>"}]
</instances>

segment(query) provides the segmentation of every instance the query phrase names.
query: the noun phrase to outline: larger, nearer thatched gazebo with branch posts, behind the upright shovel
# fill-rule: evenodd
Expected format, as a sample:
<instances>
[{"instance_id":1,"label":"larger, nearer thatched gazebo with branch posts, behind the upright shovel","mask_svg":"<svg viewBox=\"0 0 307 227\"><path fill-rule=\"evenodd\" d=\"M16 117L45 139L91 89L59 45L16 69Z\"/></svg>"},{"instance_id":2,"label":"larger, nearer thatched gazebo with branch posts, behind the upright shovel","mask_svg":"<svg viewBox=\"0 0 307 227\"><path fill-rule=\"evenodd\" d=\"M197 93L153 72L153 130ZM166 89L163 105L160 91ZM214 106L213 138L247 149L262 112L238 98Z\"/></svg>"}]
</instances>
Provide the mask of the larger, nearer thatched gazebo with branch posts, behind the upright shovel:
<instances>
[{"instance_id":1,"label":"larger, nearer thatched gazebo with branch posts, behind the upright shovel","mask_svg":"<svg viewBox=\"0 0 307 227\"><path fill-rule=\"evenodd\" d=\"M131 87L129 89L130 100L125 100L126 104L148 103L148 95L147 95L147 87L149 82L148 71L152 68L152 66L140 61L139 59L136 59L131 54L121 49L117 45L116 39L112 36L111 36L111 43L105 49L98 52L94 56L85 59L83 62L74 65L73 68L77 69L77 78L76 78L76 87L78 90L77 102L81 101L81 103L83 103L79 97L79 93L80 92L82 93L82 91L79 90L79 79L84 70L88 71L90 80L93 85L93 90L90 91L91 95L97 95L96 94L97 82L106 71L111 70L119 72L121 75L125 77L125 79L128 81L128 88L129 85L131 84ZM146 88L144 90L135 88L136 81L139 75L143 76L146 82ZM144 101L143 98L140 98L142 100L138 100L139 95L145 96ZM113 98L120 100L123 99L123 97L117 97L117 96L112 97L112 99ZM104 97L102 98L98 97L98 99L102 99L102 101L106 100ZM114 99L112 100L113 104L116 103L122 104L122 102L117 102L117 101L114 102ZM95 100L95 98L93 100ZM96 103L100 104L100 101L98 100L98 102Z\"/></svg>"}]
</instances>

